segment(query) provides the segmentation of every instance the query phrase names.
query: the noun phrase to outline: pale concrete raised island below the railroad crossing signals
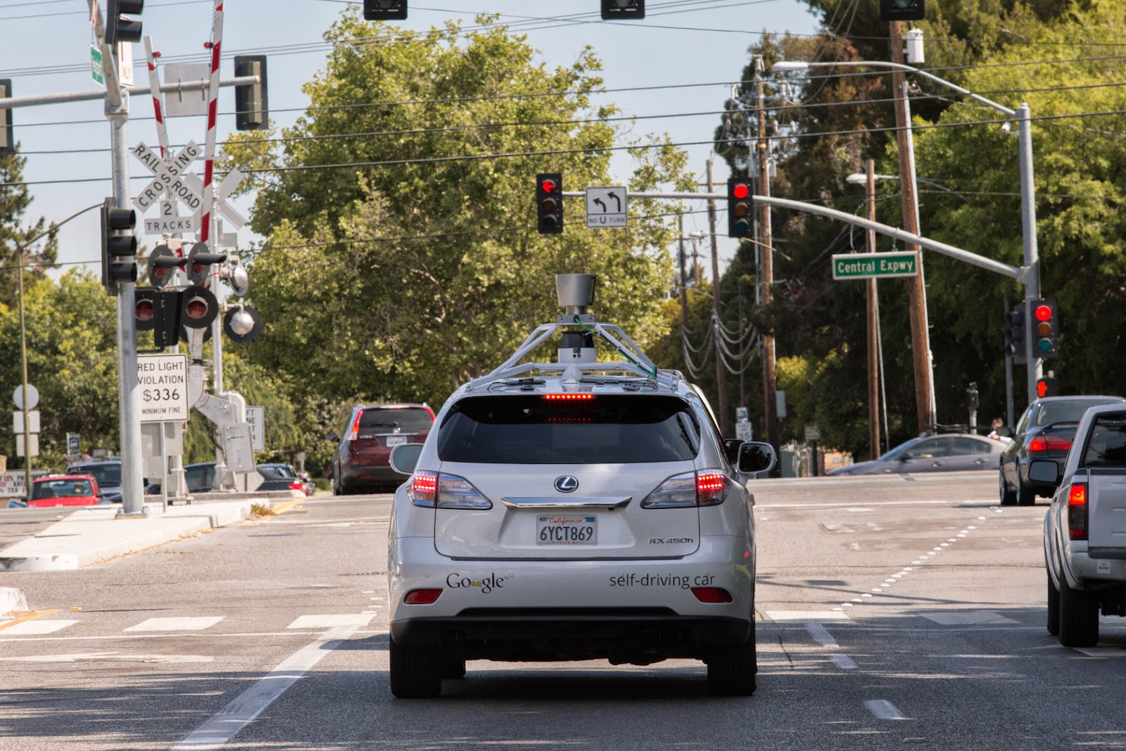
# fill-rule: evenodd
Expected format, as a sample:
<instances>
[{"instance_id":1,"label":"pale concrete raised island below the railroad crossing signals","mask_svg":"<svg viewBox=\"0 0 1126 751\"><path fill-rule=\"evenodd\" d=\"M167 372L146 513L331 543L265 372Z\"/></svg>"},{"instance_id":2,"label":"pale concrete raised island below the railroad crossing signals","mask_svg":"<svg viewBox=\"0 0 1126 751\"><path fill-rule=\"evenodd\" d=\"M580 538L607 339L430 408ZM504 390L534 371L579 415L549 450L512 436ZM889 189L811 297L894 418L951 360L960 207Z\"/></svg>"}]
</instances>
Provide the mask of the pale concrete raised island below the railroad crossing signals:
<instances>
[{"instance_id":1,"label":"pale concrete raised island below the railroad crossing signals","mask_svg":"<svg viewBox=\"0 0 1126 751\"><path fill-rule=\"evenodd\" d=\"M302 500L304 497L261 493L236 500L170 506L167 510L150 503L146 504L149 513L136 517L118 517L120 507L116 504L87 507L0 551L0 572L79 569L205 529L236 524L250 516L250 507L254 503L288 508ZM0 600L0 616L6 606L7 602Z\"/></svg>"}]
</instances>

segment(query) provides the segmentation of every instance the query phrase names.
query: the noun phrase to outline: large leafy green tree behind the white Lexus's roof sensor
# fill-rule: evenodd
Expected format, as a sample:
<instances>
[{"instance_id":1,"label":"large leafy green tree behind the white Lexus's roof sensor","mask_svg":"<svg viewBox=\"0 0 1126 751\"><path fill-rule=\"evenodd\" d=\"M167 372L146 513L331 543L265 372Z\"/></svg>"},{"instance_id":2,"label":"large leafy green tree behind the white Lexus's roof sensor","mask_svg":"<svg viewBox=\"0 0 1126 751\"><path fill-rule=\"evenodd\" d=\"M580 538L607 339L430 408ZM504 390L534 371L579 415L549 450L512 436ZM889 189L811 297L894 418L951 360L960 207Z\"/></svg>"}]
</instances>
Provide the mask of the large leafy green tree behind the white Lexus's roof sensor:
<instances>
[{"instance_id":1,"label":"large leafy green tree behind the white Lexus's roof sensor","mask_svg":"<svg viewBox=\"0 0 1126 751\"><path fill-rule=\"evenodd\" d=\"M287 374L295 402L440 404L555 320L556 272L597 274L599 315L642 346L660 330L674 238L664 207L631 202L631 227L599 233L568 198L565 232L535 232L537 172L561 171L569 190L613 185L622 136L614 109L590 104L597 59L587 50L548 70L522 37L479 21L463 37L453 24L410 33L346 12L280 151L257 132L227 146L240 169L261 170L252 226L269 238L251 260L268 325L250 357ZM683 153L655 141L633 144L631 189L687 189Z\"/></svg>"}]
</instances>

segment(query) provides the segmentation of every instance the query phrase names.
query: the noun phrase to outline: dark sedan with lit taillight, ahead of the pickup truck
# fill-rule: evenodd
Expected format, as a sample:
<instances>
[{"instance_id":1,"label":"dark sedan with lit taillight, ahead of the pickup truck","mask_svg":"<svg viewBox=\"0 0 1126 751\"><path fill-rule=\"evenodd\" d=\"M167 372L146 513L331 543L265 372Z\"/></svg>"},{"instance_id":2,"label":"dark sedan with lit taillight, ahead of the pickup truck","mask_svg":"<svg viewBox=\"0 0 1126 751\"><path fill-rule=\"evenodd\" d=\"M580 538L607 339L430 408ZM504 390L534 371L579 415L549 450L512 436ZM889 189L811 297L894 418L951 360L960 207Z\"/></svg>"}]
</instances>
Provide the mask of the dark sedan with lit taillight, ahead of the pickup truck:
<instances>
[{"instance_id":1,"label":"dark sedan with lit taillight, ahead of the pickup truck","mask_svg":"<svg viewBox=\"0 0 1126 751\"><path fill-rule=\"evenodd\" d=\"M1075 437L1079 420L1091 406L1126 402L1121 396L1045 396L1037 399L1017 421L1017 427L998 428L1012 438L1001 454L998 494L1001 506L1033 506L1037 495L1051 497L1055 486L1028 479L1028 465L1051 459L1063 465Z\"/></svg>"}]
</instances>

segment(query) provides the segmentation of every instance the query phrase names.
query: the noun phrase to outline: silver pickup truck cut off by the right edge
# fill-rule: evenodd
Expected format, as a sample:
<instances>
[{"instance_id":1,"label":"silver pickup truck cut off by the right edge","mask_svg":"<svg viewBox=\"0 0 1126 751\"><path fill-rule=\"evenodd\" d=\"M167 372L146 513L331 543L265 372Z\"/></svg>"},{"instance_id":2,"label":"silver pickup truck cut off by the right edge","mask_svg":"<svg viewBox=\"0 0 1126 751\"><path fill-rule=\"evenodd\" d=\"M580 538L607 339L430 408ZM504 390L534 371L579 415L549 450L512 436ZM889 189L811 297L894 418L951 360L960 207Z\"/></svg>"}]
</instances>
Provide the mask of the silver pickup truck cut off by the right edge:
<instances>
[{"instance_id":1,"label":"silver pickup truck cut off by the right edge","mask_svg":"<svg viewBox=\"0 0 1126 751\"><path fill-rule=\"evenodd\" d=\"M1100 613L1126 616L1126 404L1087 410L1062 472L1042 459L1029 476L1056 486L1044 518L1048 633L1094 646Z\"/></svg>"}]
</instances>

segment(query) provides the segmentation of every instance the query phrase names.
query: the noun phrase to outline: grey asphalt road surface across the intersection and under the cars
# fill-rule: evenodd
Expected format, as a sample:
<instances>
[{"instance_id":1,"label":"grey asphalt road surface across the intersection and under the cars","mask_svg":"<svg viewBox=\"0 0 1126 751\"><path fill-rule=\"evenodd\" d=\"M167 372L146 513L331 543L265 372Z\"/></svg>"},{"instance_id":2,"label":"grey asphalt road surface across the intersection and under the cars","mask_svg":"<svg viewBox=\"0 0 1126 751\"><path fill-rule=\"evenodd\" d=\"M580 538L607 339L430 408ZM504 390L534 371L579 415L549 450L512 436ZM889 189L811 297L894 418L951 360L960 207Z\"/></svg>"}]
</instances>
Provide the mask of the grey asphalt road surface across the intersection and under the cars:
<instances>
[{"instance_id":1,"label":"grey asphalt road surface across the intersection and under the cars","mask_svg":"<svg viewBox=\"0 0 1126 751\"><path fill-rule=\"evenodd\" d=\"M0 751L1121 749L1126 619L1044 627L1045 502L993 473L758 481L759 690L700 663L471 662L387 689L387 495L70 572L6 573ZM3 533L0 520L0 535Z\"/></svg>"}]
</instances>

